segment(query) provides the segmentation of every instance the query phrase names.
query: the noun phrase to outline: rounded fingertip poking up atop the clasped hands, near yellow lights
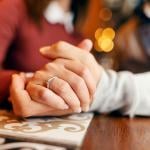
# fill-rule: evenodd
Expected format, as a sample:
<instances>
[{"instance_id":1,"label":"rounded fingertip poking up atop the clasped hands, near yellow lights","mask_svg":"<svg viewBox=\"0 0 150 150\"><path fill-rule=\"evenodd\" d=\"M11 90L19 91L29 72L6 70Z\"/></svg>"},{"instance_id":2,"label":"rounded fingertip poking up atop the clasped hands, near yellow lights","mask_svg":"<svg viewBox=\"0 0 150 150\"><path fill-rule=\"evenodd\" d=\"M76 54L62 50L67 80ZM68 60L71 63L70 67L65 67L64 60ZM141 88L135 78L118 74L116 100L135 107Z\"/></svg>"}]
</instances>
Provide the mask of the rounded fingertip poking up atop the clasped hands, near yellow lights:
<instances>
[{"instance_id":1,"label":"rounded fingertip poking up atop the clasped hands, near yellow lights","mask_svg":"<svg viewBox=\"0 0 150 150\"><path fill-rule=\"evenodd\" d=\"M92 50L93 43L91 40L85 39L81 43L79 43L78 47L90 52Z\"/></svg>"}]
</instances>

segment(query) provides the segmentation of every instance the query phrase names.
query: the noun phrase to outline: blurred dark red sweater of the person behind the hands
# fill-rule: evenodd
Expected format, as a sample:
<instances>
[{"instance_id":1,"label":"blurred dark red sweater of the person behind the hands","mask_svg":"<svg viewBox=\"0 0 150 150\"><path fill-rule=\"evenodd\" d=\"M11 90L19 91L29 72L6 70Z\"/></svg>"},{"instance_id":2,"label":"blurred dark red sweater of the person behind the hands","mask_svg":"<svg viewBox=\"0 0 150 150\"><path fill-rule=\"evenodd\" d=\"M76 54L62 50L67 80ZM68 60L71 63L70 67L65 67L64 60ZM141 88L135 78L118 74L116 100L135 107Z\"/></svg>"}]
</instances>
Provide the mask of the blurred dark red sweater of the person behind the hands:
<instances>
[{"instance_id":1,"label":"blurred dark red sweater of the person behind the hands","mask_svg":"<svg viewBox=\"0 0 150 150\"><path fill-rule=\"evenodd\" d=\"M39 28L27 15L23 0L0 0L0 100L6 96L14 70L32 72L48 62L39 48L59 40L77 44L81 37L66 33L64 26L45 18ZM10 71L12 70L12 71Z\"/></svg>"}]
</instances>

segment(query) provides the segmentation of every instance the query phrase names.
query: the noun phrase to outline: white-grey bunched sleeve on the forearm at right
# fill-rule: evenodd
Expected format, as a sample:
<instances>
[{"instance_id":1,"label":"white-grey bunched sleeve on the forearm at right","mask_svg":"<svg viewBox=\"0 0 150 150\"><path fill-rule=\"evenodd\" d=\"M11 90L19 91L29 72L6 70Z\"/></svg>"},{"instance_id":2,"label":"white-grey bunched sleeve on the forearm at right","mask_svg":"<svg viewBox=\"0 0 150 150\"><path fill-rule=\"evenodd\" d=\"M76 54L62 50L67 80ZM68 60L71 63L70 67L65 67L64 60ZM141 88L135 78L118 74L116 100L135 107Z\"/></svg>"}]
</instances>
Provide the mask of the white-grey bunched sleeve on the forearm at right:
<instances>
[{"instance_id":1,"label":"white-grey bunched sleeve on the forearm at right","mask_svg":"<svg viewBox=\"0 0 150 150\"><path fill-rule=\"evenodd\" d=\"M107 113L114 110L130 117L150 116L150 72L103 71L91 111Z\"/></svg>"}]
</instances>

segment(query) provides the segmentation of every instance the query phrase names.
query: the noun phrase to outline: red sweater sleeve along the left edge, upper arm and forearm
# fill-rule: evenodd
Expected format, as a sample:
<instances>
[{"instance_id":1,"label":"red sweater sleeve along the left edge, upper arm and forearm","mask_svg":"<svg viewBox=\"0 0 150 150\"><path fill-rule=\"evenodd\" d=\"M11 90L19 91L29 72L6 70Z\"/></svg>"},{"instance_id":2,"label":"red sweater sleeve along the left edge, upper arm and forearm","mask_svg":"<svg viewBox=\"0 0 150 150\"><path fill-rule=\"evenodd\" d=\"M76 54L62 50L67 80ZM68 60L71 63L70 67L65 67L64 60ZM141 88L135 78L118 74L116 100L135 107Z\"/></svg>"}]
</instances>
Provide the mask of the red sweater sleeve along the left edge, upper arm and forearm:
<instances>
[{"instance_id":1,"label":"red sweater sleeve along the left edge, upper arm and forearm","mask_svg":"<svg viewBox=\"0 0 150 150\"><path fill-rule=\"evenodd\" d=\"M19 1L22 0L0 0L0 66L13 38L15 37L19 23ZM20 8L21 9L21 8ZM15 71L0 71L0 101L9 92L11 75Z\"/></svg>"}]
</instances>

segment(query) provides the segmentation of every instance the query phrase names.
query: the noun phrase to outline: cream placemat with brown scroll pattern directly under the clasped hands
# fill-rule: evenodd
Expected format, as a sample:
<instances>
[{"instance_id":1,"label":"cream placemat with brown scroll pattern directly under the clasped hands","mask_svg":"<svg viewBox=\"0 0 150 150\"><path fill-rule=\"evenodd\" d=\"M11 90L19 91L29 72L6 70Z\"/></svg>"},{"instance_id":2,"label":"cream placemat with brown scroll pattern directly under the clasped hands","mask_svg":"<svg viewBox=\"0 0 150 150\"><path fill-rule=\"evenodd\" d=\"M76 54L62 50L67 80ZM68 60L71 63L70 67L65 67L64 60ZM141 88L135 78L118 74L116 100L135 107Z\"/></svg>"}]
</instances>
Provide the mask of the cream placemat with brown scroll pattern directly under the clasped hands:
<instances>
[{"instance_id":1,"label":"cream placemat with brown scroll pattern directly under the clasped hands","mask_svg":"<svg viewBox=\"0 0 150 150\"><path fill-rule=\"evenodd\" d=\"M92 117L92 113L81 113L24 119L0 111L0 136L26 142L80 147Z\"/></svg>"}]
</instances>

